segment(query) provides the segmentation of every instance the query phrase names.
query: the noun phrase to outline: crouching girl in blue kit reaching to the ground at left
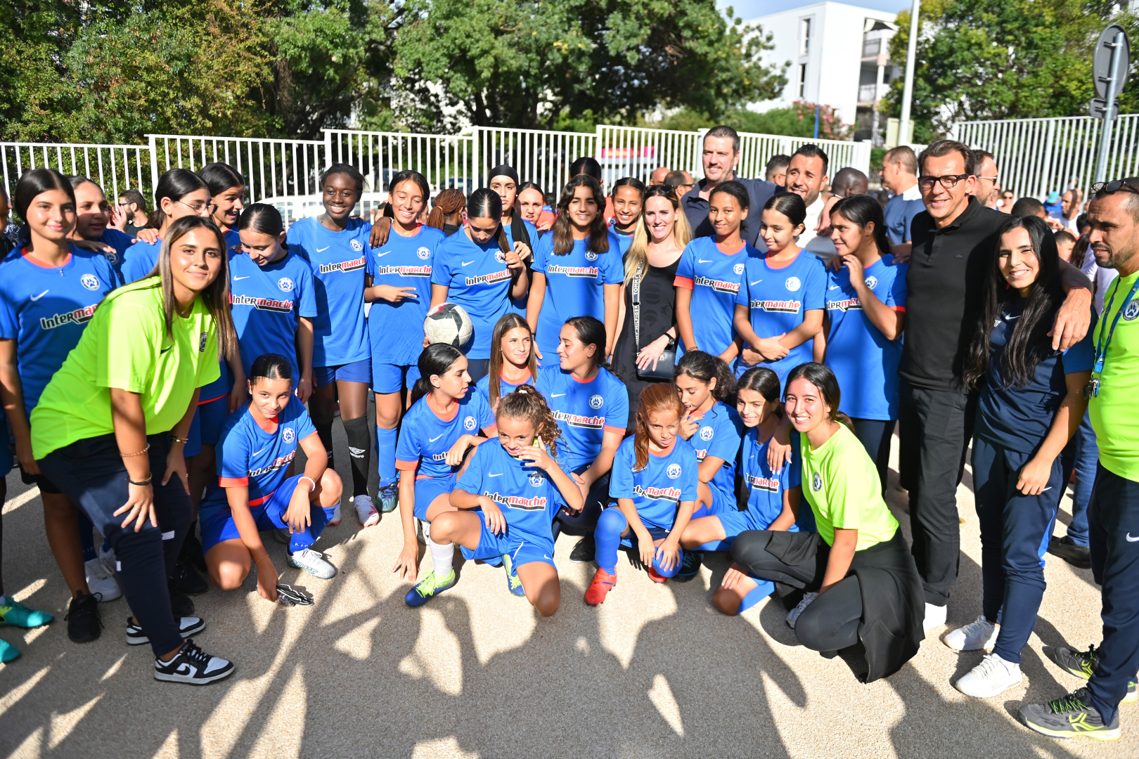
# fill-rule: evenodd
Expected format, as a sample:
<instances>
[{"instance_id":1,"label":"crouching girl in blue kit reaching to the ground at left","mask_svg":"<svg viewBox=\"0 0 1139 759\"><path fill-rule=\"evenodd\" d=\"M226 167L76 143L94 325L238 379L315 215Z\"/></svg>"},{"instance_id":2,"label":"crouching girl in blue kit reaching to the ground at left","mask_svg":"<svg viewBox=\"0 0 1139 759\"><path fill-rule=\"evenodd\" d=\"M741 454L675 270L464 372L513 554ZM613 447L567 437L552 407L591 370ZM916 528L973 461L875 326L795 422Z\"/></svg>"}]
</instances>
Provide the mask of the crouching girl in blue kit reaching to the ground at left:
<instances>
[{"instance_id":1,"label":"crouching girl in blue kit reaching to the ground at left","mask_svg":"<svg viewBox=\"0 0 1139 759\"><path fill-rule=\"evenodd\" d=\"M310 546L343 485L293 393L293 362L273 353L257 356L247 387L252 399L226 420L218 443L218 481L202 502L202 544L218 587L239 588L256 564L257 593L277 601L277 569L259 530L287 529L288 564L331 579L336 568ZM298 449L304 472L289 477Z\"/></svg>"}]
</instances>

